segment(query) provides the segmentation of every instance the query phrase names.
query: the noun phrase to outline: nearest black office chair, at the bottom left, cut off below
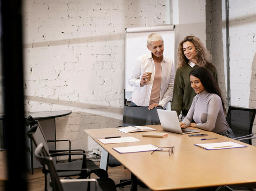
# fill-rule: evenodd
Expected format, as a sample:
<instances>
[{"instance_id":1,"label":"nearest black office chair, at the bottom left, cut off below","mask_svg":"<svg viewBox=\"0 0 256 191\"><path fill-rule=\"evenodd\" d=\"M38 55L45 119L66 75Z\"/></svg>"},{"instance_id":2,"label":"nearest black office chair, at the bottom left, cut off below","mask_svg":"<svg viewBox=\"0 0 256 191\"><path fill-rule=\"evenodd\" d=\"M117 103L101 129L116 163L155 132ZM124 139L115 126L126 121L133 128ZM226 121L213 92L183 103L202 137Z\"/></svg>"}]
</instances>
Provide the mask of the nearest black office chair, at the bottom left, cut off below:
<instances>
[{"instance_id":1,"label":"nearest black office chair, at the bottom left, cut off below","mask_svg":"<svg viewBox=\"0 0 256 191\"><path fill-rule=\"evenodd\" d=\"M35 149L36 159L43 165L43 170L50 174L50 184L47 191L116 191L115 182L110 178L91 179L90 170L82 169L89 179L59 179L52 157L48 154L44 145L40 143ZM81 169L66 169L65 171L79 172Z\"/></svg>"}]
</instances>

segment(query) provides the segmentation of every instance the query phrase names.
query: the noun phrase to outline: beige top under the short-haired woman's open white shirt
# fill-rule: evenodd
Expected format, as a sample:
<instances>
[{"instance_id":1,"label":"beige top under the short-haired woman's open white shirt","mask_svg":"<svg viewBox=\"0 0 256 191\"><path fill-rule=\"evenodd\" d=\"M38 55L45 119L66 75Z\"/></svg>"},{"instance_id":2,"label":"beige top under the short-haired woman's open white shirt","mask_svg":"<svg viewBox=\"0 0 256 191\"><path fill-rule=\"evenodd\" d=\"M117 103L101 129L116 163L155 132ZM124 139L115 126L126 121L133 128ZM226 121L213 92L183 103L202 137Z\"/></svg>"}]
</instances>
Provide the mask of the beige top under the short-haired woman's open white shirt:
<instances>
[{"instance_id":1,"label":"beige top under the short-haired woman's open white shirt","mask_svg":"<svg viewBox=\"0 0 256 191\"><path fill-rule=\"evenodd\" d=\"M154 61L155 62L155 61ZM162 67L161 62L155 62L155 76L153 81L153 86L150 94L149 105L152 103L159 103L160 90L161 90L161 78L162 78Z\"/></svg>"}]
</instances>

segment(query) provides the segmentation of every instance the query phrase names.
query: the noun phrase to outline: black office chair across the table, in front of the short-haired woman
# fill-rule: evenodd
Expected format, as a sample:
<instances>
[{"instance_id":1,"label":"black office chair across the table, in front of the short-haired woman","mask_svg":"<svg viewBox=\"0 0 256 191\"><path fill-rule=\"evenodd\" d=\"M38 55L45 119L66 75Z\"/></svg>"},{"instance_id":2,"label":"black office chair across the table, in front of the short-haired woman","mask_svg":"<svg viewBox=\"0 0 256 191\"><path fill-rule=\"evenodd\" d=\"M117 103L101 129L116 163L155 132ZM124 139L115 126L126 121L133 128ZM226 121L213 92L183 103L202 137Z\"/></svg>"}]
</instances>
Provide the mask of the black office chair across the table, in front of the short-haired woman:
<instances>
[{"instance_id":1,"label":"black office chair across the table, in front of the short-haired woman","mask_svg":"<svg viewBox=\"0 0 256 191\"><path fill-rule=\"evenodd\" d=\"M157 109L163 109L163 107L159 106L152 110L149 110L148 108L149 107L124 105L123 125L120 127L160 124L160 120L157 115ZM122 164L111 154L109 154L108 166L113 168L120 165ZM132 173L130 180L120 180L120 183L116 184L116 187L124 187L130 184L132 184L132 187L137 186L137 184L141 187L146 187L145 184L140 180L137 180L136 176L134 176Z\"/></svg>"}]
</instances>

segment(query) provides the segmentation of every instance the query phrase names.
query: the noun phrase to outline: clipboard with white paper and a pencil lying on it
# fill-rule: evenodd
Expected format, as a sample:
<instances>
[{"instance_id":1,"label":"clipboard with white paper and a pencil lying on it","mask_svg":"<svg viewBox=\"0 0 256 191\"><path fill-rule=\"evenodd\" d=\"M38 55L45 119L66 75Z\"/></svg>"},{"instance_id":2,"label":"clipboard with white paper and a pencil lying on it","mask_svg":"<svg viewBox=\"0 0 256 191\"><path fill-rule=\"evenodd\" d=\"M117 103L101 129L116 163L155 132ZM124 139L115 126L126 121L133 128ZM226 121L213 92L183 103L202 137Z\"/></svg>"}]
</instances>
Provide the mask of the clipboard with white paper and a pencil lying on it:
<instances>
[{"instance_id":1,"label":"clipboard with white paper and a pencil lying on it","mask_svg":"<svg viewBox=\"0 0 256 191\"><path fill-rule=\"evenodd\" d=\"M217 150L217 149L231 149L239 147L247 147L233 141L220 142L220 143L205 143L205 144L195 144L196 146L206 149L206 150Z\"/></svg>"}]
</instances>

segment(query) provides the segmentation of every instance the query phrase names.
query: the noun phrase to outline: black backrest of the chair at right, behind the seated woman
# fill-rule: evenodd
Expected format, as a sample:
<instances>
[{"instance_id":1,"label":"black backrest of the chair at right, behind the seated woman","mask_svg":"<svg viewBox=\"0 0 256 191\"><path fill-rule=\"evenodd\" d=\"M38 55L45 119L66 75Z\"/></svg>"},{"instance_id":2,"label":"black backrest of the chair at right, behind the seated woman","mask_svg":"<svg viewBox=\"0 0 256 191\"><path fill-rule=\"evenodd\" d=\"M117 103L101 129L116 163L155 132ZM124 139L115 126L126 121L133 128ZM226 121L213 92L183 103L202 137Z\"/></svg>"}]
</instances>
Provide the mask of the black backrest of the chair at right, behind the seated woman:
<instances>
[{"instance_id":1,"label":"black backrest of the chair at right, behind the seated woman","mask_svg":"<svg viewBox=\"0 0 256 191\"><path fill-rule=\"evenodd\" d=\"M252 126L256 115L256 109L230 106L226 120L235 137L241 137L252 133ZM252 144L251 139L241 140Z\"/></svg>"}]
</instances>

